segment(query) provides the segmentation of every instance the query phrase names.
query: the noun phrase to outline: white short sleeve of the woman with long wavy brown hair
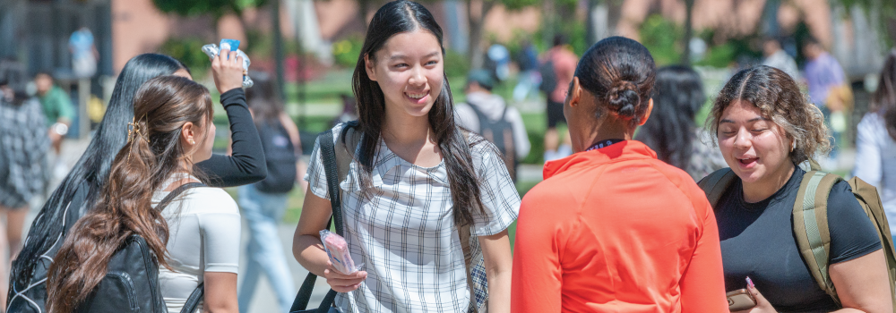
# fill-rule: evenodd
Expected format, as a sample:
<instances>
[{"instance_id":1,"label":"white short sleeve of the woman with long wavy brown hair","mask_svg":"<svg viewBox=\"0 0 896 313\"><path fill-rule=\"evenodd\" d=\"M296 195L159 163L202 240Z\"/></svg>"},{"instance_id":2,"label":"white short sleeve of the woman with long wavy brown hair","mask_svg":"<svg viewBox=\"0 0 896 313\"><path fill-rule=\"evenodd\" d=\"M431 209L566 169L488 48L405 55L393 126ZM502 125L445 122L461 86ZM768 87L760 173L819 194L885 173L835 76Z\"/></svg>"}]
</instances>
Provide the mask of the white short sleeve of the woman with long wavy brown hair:
<instances>
[{"instance_id":1,"label":"white short sleeve of the woman with long wavy brown hair","mask_svg":"<svg viewBox=\"0 0 896 313\"><path fill-rule=\"evenodd\" d=\"M215 194L206 199L214 212L197 214L202 234L202 252L205 272L237 273L239 269L239 209L224 190L214 189ZM220 193L220 194L219 194Z\"/></svg>"}]
</instances>

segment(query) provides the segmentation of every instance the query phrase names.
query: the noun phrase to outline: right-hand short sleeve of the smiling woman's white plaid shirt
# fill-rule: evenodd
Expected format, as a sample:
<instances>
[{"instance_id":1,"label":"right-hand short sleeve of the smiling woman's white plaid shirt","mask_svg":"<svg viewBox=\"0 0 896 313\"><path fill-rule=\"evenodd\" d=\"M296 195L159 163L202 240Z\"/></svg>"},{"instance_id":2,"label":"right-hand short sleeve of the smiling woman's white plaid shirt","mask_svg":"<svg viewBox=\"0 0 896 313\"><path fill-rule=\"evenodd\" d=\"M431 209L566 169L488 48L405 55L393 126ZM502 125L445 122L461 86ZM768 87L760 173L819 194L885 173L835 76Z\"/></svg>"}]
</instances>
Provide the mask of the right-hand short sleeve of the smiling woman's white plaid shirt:
<instances>
[{"instance_id":1,"label":"right-hand short sleeve of the smiling woman's white plaid shirt","mask_svg":"<svg viewBox=\"0 0 896 313\"><path fill-rule=\"evenodd\" d=\"M473 233L488 236L507 229L520 214L520 194L497 156L497 148L484 141L470 149L482 197L482 213L473 210Z\"/></svg>"}]
</instances>

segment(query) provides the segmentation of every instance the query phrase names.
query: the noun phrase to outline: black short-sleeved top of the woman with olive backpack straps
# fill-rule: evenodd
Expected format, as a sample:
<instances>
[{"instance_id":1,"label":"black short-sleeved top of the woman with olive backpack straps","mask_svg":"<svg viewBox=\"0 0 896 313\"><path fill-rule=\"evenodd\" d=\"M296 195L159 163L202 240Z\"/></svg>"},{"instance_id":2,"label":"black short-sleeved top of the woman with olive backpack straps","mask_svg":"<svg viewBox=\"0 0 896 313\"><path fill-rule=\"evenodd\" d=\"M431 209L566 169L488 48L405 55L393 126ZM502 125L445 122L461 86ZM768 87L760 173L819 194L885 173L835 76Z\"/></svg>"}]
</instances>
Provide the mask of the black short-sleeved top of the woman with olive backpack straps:
<instances>
[{"instance_id":1,"label":"black short-sleeved top of the woman with olive backpack straps","mask_svg":"<svg viewBox=\"0 0 896 313\"><path fill-rule=\"evenodd\" d=\"M716 206L725 289L746 288L745 277L756 284L771 305L783 312L830 312L837 308L815 283L793 235L793 205L802 182L799 167L780 190L756 203L744 200L738 179ZM849 183L838 182L828 196L831 231L830 264L849 261L881 249L877 229L859 206Z\"/></svg>"}]
</instances>

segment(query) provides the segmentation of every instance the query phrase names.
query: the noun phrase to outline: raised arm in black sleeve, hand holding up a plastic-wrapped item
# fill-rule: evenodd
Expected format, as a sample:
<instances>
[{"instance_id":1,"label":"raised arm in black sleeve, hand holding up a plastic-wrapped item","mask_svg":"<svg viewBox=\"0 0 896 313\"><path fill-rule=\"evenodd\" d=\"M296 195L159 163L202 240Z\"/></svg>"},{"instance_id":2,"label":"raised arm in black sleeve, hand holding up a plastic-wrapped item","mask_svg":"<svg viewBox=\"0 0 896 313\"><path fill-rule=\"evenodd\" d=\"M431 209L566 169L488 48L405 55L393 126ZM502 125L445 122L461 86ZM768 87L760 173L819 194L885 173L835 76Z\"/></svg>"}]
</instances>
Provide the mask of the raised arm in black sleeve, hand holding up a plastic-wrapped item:
<instances>
[{"instance_id":1,"label":"raised arm in black sleeve, hand holding up a plastic-wrapped item","mask_svg":"<svg viewBox=\"0 0 896 313\"><path fill-rule=\"evenodd\" d=\"M224 54L226 51L221 52ZM221 105L227 111L230 122L232 156L215 154L196 166L210 176L208 182L213 187L232 187L259 182L267 176L264 163L262 140L252 121L252 114L246 106L246 95L242 89L242 58L232 53L230 60L215 57L211 62L215 86L221 92ZM237 63L240 62L240 63Z\"/></svg>"}]
</instances>

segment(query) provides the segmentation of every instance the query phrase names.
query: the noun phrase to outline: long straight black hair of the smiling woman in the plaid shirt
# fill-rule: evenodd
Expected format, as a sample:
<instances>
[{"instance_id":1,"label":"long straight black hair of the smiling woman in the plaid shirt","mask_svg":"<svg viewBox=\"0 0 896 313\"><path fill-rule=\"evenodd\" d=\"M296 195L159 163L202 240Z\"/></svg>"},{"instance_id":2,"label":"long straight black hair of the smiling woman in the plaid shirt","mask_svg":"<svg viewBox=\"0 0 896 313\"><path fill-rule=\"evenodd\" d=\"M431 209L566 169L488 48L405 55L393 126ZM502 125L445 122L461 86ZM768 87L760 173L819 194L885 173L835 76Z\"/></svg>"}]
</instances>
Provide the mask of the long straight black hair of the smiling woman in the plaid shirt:
<instances>
[{"instance_id":1,"label":"long straight black hair of the smiling woman in the plaid shirt","mask_svg":"<svg viewBox=\"0 0 896 313\"><path fill-rule=\"evenodd\" d=\"M413 30L426 30L432 33L438 39L444 55L442 28L435 22L433 14L423 5L407 0L392 1L376 11L374 19L367 28L361 54L358 55L358 63L352 75L352 90L358 99L358 125L360 131L364 133L360 143L361 153L358 156L358 162L363 169L361 183L364 187L369 186L370 173L373 170L374 156L379 146L385 118L383 90L376 81L370 80L367 76L364 57L366 55L371 62L376 62L376 52L383 48L389 38ZM482 210L482 199L470 147L478 144L481 138L473 136L477 139L468 142L464 139L461 129L454 123L454 100L448 86L448 76L444 72L443 77L442 91L435 99L435 105L429 110L429 127L435 133L436 144L442 151L448 172L454 203L454 222L472 224L471 212L473 209Z\"/></svg>"}]
</instances>

